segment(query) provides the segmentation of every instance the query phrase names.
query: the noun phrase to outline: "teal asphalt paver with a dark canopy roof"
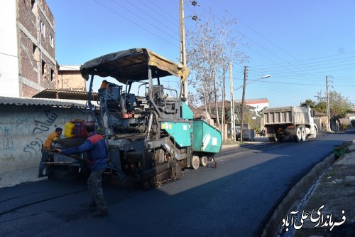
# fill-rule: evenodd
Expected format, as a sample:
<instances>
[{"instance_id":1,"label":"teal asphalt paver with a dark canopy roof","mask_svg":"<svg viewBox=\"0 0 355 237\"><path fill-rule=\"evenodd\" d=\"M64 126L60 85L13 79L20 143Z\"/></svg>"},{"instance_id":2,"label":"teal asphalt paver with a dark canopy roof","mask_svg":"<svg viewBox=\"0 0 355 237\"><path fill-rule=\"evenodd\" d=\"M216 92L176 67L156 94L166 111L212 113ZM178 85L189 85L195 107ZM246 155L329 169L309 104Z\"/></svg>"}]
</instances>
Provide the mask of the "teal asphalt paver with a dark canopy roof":
<instances>
[{"instance_id":1,"label":"teal asphalt paver with a dark canopy roof","mask_svg":"<svg viewBox=\"0 0 355 237\"><path fill-rule=\"evenodd\" d=\"M168 76L186 81L187 66L146 48L132 48L89 60L80 71L90 81L87 121L93 121L105 137L107 173L113 179L126 178L149 188L180 179L182 169L214 162L214 154L222 147L221 132L204 120L193 120L182 90L163 83ZM99 89L99 107L95 107L91 100L94 79L101 83L107 77L117 83ZM75 144L68 141L58 144L61 148ZM79 174L85 170L85 157L53 154L47 166L50 177Z\"/></svg>"}]
</instances>

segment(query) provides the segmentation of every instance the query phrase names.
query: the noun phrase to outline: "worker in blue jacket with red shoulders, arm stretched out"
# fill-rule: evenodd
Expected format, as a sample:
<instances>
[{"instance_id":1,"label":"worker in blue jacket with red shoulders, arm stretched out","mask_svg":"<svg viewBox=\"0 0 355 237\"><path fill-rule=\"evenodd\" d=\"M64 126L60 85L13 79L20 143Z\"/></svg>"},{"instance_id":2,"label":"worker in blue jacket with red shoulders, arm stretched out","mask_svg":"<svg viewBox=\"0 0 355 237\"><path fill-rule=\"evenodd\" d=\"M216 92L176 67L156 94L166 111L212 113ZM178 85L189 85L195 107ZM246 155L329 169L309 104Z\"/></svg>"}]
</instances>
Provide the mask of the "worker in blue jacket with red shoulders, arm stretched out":
<instances>
[{"instance_id":1,"label":"worker in blue jacket with red shoulders, arm stretched out","mask_svg":"<svg viewBox=\"0 0 355 237\"><path fill-rule=\"evenodd\" d=\"M107 148L104 137L95 132L94 122L89 122L85 125L87 132L87 139L78 147L68 149L53 149L53 152L60 154L79 154L87 152L89 157L88 164L91 169L89 179L87 179L87 186L89 193L92 196L92 204L90 207L97 207L97 211L92 216L102 217L108 216L107 204L104 200L104 193L102 191L102 174L107 167Z\"/></svg>"}]
</instances>

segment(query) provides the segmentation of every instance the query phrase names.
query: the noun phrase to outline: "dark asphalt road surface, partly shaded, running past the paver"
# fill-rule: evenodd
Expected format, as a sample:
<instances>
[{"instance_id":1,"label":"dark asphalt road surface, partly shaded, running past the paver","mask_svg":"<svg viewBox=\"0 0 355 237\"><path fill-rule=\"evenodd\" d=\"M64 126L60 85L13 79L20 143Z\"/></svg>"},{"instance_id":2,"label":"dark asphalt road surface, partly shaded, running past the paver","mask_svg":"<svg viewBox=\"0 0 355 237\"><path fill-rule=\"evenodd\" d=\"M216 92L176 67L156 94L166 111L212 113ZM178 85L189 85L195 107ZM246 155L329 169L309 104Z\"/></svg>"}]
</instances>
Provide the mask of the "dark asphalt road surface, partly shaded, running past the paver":
<instances>
[{"instance_id":1,"label":"dark asphalt road surface, partly shaded, running past the paver","mask_svg":"<svg viewBox=\"0 0 355 237\"><path fill-rule=\"evenodd\" d=\"M260 236L275 206L354 132L266 143L216 156L143 191L104 184L109 216L94 218L84 182L38 181L0 189L0 236Z\"/></svg>"}]
</instances>

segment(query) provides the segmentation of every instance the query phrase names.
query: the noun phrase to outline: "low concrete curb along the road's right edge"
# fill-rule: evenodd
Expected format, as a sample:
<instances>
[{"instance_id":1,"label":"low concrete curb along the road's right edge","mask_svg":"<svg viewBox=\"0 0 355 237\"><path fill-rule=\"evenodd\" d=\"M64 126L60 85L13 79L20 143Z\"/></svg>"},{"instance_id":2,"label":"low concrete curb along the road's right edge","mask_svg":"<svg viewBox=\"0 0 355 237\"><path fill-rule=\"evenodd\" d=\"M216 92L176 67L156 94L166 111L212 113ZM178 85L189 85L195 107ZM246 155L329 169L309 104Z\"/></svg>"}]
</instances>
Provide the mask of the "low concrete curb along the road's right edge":
<instances>
[{"instance_id":1,"label":"low concrete curb along the road's right edge","mask_svg":"<svg viewBox=\"0 0 355 237\"><path fill-rule=\"evenodd\" d=\"M269 219L268 223L263 229L261 236L275 236L278 231L282 219L285 217L285 214L288 213L294 206L295 203L299 203L305 193L310 189L312 184L315 184L315 181L320 177L320 175L335 161L335 155L330 154L328 157L323 159L322 162L319 162L312 168L308 174L305 175L300 181L293 186L293 188L288 192L283 201L280 202L278 207L273 212L273 215Z\"/></svg>"}]
</instances>

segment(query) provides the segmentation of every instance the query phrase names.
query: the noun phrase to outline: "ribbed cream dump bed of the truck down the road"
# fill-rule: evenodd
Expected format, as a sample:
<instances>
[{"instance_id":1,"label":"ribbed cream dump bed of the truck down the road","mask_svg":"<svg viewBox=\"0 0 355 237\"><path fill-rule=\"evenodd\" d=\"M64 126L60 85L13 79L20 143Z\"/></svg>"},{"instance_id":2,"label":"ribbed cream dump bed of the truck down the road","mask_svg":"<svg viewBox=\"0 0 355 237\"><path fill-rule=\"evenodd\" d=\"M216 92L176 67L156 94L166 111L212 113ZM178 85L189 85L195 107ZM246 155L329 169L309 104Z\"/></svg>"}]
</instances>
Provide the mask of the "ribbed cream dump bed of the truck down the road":
<instances>
[{"instance_id":1,"label":"ribbed cream dump bed of the truck down the road","mask_svg":"<svg viewBox=\"0 0 355 237\"><path fill-rule=\"evenodd\" d=\"M307 107L275 107L264 109L264 125L310 125Z\"/></svg>"}]
</instances>

